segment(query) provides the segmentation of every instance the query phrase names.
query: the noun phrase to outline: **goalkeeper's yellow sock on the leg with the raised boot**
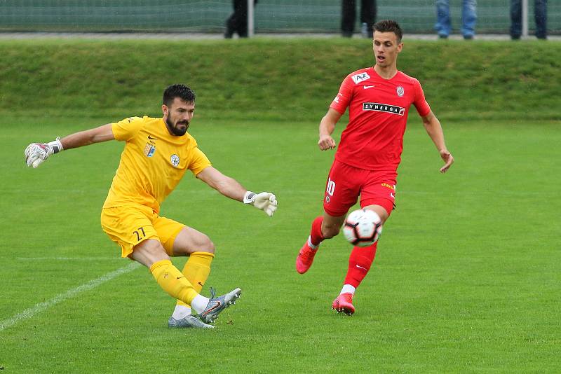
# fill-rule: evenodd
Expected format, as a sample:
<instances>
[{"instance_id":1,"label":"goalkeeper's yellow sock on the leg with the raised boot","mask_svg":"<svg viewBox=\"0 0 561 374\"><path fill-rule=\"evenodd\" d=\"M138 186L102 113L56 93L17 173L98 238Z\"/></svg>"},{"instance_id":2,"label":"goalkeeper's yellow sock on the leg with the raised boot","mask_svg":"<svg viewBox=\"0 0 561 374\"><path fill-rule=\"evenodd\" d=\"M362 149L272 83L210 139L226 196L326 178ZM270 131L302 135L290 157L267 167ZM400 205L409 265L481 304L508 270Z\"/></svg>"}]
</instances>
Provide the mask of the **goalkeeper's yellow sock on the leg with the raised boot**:
<instances>
[{"instance_id":1,"label":"goalkeeper's yellow sock on the leg with the raised boot","mask_svg":"<svg viewBox=\"0 0 561 374\"><path fill-rule=\"evenodd\" d=\"M173 298L191 304L191 301L198 296L193 284L182 275L179 269L175 268L170 260L161 260L152 264L150 272L161 288Z\"/></svg>"}]
</instances>

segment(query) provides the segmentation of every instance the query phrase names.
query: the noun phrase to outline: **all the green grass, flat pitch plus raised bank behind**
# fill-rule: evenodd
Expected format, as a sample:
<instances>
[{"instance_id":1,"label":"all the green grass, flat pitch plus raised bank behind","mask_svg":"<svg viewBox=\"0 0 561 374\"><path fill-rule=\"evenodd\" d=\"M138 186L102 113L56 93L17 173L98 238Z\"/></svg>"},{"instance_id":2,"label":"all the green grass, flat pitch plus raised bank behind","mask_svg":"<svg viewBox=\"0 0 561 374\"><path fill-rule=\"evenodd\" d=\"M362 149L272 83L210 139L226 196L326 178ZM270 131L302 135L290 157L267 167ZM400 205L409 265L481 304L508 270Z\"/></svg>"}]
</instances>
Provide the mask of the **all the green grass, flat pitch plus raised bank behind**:
<instances>
[{"instance_id":1,"label":"all the green grass, flat pitch plus raised bank behind","mask_svg":"<svg viewBox=\"0 0 561 374\"><path fill-rule=\"evenodd\" d=\"M294 263L332 162L318 121L343 76L372 63L369 43L0 42L0 370L560 372L560 61L555 42L406 41L400 67L423 83L457 162L438 173L412 111L398 209L348 318L330 312L343 238L306 275ZM278 196L269 219L188 175L163 205L215 242L208 285L241 286L243 298L215 331L170 331L173 300L137 268L21 316L130 263L99 223L122 144L39 169L23 149L159 115L177 81L198 93L191 131L215 167Z\"/></svg>"}]
</instances>

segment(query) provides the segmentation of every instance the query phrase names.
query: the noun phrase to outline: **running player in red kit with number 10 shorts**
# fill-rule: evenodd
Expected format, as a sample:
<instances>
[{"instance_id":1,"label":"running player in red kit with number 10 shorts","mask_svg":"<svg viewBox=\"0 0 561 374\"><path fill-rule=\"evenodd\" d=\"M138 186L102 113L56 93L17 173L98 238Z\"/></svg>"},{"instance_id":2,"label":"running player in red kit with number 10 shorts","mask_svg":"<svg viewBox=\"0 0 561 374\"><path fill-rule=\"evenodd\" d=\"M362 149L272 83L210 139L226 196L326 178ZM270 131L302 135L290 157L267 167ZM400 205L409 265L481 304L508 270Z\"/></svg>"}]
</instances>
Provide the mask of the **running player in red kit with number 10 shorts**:
<instances>
[{"instance_id":1,"label":"running player in red kit with number 10 shorts","mask_svg":"<svg viewBox=\"0 0 561 374\"><path fill-rule=\"evenodd\" d=\"M346 76L320 122L319 148L322 151L335 148L331 134L349 108L349 124L341 134L327 178L324 214L313 220L310 236L296 259L296 270L300 274L309 270L320 243L339 233L346 213L359 196L363 209L376 212L382 222L388 219L394 208L397 169L411 104L445 162L440 172L446 172L454 162L446 148L440 121L428 106L419 81L397 69L398 53L403 48L403 32L398 23L384 20L373 28L374 67ZM355 312L353 296L370 270L377 244L353 248L344 286L333 301L332 309L349 315Z\"/></svg>"}]
</instances>

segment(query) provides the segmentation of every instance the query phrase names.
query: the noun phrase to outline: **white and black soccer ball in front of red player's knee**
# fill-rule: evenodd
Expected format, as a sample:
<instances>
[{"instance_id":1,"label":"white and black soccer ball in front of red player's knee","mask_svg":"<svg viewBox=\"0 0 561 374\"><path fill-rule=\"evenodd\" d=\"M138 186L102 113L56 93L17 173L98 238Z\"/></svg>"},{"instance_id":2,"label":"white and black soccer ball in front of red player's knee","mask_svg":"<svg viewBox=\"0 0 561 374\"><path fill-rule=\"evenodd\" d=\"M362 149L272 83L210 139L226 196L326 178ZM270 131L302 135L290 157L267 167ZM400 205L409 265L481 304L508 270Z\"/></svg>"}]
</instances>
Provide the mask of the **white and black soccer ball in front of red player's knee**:
<instances>
[{"instance_id":1,"label":"white and black soccer ball in front of red player's knee","mask_svg":"<svg viewBox=\"0 0 561 374\"><path fill-rule=\"evenodd\" d=\"M346 217L343 234L346 240L357 247L374 244L381 235L381 219L376 212L358 209Z\"/></svg>"}]
</instances>

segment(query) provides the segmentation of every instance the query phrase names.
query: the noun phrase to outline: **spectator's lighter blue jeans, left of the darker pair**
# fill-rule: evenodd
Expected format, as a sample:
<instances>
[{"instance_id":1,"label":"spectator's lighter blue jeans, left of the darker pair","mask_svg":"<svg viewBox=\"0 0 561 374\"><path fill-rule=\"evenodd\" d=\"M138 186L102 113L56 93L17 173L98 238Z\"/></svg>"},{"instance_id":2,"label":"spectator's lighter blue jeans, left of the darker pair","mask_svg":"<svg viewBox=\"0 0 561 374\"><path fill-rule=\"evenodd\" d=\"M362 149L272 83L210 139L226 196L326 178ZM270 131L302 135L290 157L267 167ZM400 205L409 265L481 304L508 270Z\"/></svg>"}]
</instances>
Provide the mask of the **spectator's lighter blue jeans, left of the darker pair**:
<instances>
[{"instance_id":1,"label":"spectator's lighter blue jeans, left of the darker pair","mask_svg":"<svg viewBox=\"0 0 561 374\"><path fill-rule=\"evenodd\" d=\"M461 34L464 37L475 35L475 22L478 20L477 1L461 1ZM440 36L448 36L452 32L450 20L450 0L436 0L436 32Z\"/></svg>"}]
</instances>

